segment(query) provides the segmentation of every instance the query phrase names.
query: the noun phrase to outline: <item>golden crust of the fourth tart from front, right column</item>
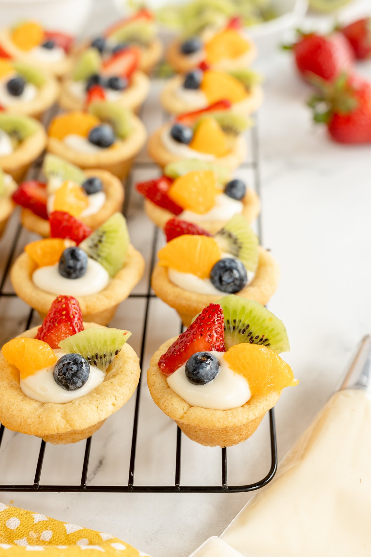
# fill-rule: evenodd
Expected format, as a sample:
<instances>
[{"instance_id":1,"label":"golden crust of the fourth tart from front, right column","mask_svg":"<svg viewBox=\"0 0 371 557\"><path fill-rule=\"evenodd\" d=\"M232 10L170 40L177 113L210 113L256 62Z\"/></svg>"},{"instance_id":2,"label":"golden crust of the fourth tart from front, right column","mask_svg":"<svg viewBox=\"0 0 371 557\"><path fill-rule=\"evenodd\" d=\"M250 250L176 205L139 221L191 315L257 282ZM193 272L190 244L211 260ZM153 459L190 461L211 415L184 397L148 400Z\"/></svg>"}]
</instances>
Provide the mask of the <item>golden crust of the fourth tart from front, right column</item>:
<instances>
[{"instance_id":1,"label":"golden crust of the fourth tart from front, right column","mask_svg":"<svg viewBox=\"0 0 371 557\"><path fill-rule=\"evenodd\" d=\"M184 157L179 157L179 155L174 155L169 153L162 145L161 135L171 124L165 124L161 126L155 133L153 133L148 141L147 149L148 154L160 167L164 168L169 163L174 163L176 160L183 160ZM241 163L244 162L246 158L247 146L246 139L243 134L238 135L233 140L233 149L225 157L215 158L213 161L215 164L220 164L230 170L235 170L239 167Z\"/></svg>"}]
</instances>

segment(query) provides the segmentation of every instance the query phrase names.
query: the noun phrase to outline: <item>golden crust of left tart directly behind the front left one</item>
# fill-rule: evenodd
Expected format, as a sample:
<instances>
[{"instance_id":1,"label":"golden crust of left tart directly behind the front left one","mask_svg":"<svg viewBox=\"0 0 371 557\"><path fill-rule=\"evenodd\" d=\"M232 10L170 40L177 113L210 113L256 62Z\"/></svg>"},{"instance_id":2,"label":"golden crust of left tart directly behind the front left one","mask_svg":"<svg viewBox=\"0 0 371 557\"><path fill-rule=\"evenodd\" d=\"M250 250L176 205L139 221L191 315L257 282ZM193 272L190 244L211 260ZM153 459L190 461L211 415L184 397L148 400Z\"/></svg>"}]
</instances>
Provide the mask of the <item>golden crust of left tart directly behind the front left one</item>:
<instances>
[{"instance_id":1,"label":"golden crust of left tart directly behind the front left one","mask_svg":"<svg viewBox=\"0 0 371 557\"><path fill-rule=\"evenodd\" d=\"M107 325L117 305L126 300L133 287L141 280L144 266L141 253L129 245L125 265L104 290L89 296L76 296L84 320ZM36 270L35 263L26 252L23 252L14 261L10 278L16 294L43 316L50 309L56 294L44 292L33 284L31 276L34 270Z\"/></svg>"}]
</instances>

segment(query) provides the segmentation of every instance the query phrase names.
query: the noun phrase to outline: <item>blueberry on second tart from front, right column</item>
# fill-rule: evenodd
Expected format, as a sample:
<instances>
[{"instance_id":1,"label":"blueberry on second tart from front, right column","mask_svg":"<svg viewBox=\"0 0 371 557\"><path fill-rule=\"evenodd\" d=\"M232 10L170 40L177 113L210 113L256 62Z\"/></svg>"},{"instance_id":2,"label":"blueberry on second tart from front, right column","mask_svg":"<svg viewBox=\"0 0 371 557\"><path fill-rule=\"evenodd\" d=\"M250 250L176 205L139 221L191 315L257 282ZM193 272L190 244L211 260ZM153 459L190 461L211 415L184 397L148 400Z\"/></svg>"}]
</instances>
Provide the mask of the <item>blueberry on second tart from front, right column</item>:
<instances>
[{"instance_id":1,"label":"blueberry on second tart from front, right column","mask_svg":"<svg viewBox=\"0 0 371 557\"><path fill-rule=\"evenodd\" d=\"M218 290L236 294L245 286L248 275L239 259L226 257L217 261L212 267L210 280Z\"/></svg>"}]
</instances>

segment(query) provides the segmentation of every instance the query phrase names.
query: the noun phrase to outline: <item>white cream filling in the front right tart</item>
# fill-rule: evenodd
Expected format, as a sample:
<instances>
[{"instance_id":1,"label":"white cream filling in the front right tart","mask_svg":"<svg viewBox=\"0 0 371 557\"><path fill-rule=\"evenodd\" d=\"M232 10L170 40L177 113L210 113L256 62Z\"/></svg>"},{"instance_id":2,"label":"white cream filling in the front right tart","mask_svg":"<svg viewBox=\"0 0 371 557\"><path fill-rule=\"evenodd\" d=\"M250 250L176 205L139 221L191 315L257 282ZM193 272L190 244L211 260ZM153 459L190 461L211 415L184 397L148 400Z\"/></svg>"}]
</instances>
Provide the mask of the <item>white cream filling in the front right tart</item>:
<instances>
[{"instance_id":1,"label":"white cream filling in the front right tart","mask_svg":"<svg viewBox=\"0 0 371 557\"><path fill-rule=\"evenodd\" d=\"M248 380L235 373L224 359L224 352L210 352L220 363L215 379L205 385L190 383L185 364L166 378L169 387L191 406L210 410L229 410L243 406L250 400Z\"/></svg>"}]
</instances>

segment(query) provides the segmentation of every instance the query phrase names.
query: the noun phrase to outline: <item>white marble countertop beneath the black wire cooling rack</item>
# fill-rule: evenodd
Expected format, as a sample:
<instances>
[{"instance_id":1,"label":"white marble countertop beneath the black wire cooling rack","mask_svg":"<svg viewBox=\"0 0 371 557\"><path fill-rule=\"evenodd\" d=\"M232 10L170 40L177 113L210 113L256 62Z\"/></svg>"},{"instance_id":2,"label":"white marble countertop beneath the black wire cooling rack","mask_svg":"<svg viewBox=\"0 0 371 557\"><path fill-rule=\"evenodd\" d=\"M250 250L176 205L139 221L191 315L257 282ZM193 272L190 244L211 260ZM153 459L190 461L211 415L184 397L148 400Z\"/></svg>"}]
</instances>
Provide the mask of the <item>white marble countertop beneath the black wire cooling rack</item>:
<instances>
[{"instance_id":1,"label":"white marble countertop beneath the black wire cooling rack","mask_svg":"<svg viewBox=\"0 0 371 557\"><path fill-rule=\"evenodd\" d=\"M370 146L334 144L321 126L311 123L305 106L310 89L291 62L288 53L277 52L258 63L265 75L265 102L258 116L263 240L281 266L280 286L269 307L288 329L287 360L300 379L300 386L286 389L276 407L279 457L323 406L355 345L371 330ZM371 77L371 62L364 63L362 71ZM159 124L156 91L154 84L144 111L149 129ZM137 170L134 179L151 173ZM239 174L251 180L249 170ZM141 199L132 193L132 242L148 261L153 227L141 207ZM4 252L10 248L14 224L2 240ZM29 234L22 232L18 251L27 241ZM145 287L144 280L136 291ZM27 307L2 299L0 310L7 323L1 340L6 340L21 330ZM133 331L137 350L143 311L144 301L128 300L112 323ZM145 364L178 329L175 312L152 301ZM172 483L176 427L152 403L145 381L143 387L136 482ZM127 483L132 411L133 400L93 436L91 483ZM0 483L32 482L38 449L39 439L6 431ZM42 483L80 482L84 449L85 443L47 446ZM262 477L269 468L268 419L244 446L228 452L234 480L247 483ZM210 485L220 482L220 449L200 447L183 436L182 456L182 482L192 483L195 471ZM110 532L154 557L186 557L209 536L221 534L248 499L248 494L0 495L5 504Z\"/></svg>"}]
</instances>

